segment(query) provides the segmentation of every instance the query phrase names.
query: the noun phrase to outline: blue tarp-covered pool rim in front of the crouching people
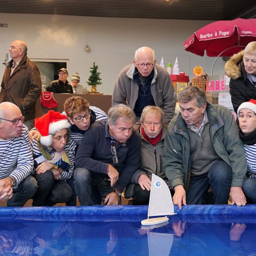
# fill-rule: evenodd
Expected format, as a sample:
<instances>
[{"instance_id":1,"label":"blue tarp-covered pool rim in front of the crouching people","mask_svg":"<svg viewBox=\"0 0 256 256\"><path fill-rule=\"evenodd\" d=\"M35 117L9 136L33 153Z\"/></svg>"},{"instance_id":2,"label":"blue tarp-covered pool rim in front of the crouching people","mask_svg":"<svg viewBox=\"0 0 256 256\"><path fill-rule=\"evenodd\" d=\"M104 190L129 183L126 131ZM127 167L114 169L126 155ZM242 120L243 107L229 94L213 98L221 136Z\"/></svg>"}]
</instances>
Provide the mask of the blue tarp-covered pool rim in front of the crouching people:
<instances>
[{"instance_id":1,"label":"blue tarp-covered pool rim in front of the crouching people","mask_svg":"<svg viewBox=\"0 0 256 256\"><path fill-rule=\"evenodd\" d=\"M187 205L179 210L178 215L256 215L256 204L237 205ZM148 205L98 205L82 207L1 207L0 215L147 215Z\"/></svg>"}]
</instances>

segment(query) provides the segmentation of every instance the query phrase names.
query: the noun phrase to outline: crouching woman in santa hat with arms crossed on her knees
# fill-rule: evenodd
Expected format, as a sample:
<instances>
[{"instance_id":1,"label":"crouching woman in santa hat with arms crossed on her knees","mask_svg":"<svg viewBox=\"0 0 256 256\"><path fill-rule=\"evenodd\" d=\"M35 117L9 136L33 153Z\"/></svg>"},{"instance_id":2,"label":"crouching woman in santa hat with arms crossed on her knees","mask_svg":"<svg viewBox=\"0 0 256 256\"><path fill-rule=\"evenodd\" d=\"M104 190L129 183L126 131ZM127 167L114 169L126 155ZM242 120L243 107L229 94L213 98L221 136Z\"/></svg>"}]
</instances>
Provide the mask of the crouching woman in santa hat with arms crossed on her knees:
<instances>
[{"instance_id":1,"label":"crouching woman in santa hat with arms crossed on her knees","mask_svg":"<svg viewBox=\"0 0 256 256\"><path fill-rule=\"evenodd\" d=\"M74 172L76 144L68 139L70 126L65 115L53 110L35 119L38 134L32 141L32 152L38 189L33 206L52 206L71 199L72 189L66 180Z\"/></svg>"}]
</instances>

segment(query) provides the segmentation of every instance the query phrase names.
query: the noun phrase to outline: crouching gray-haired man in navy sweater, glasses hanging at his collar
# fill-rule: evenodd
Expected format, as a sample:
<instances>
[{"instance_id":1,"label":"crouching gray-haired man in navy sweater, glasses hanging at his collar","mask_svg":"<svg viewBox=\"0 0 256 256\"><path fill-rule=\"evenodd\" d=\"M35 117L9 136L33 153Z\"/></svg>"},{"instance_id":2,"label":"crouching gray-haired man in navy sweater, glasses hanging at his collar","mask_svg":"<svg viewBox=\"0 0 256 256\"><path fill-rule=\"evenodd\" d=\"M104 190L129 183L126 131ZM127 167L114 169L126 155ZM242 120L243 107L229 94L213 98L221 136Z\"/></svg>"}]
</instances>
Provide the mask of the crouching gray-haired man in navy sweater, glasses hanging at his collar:
<instances>
[{"instance_id":1,"label":"crouching gray-haired man in navy sweater, glasses hanging at his collar","mask_svg":"<svg viewBox=\"0 0 256 256\"><path fill-rule=\"evenodd\" d=\"M107 205L121 203L141 154L141 137L133 129L134 111L127 105L115 105L108 121L91 125L78 147L74 185L81 205L93 205L91 187L97 185Z\"/></svg>"}]
</instances>

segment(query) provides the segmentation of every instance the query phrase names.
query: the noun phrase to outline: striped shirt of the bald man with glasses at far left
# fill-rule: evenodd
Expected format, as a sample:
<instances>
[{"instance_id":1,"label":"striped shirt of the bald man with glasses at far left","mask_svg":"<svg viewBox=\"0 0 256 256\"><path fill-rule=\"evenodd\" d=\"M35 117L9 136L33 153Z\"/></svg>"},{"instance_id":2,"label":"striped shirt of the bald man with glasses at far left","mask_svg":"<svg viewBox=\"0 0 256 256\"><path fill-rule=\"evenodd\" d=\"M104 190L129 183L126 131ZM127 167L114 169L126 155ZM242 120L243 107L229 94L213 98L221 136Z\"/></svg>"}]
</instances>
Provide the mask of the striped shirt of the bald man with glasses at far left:
<instances>
[{"instance_id":1,"label":"striped shirt of the bald man with glasses at far left","mask_svg":"<svg viewBox=\"0 0 256 256\"><path fill-rule=\"evenodd\" d=\"M34 159L31 152L28 128L23 125L18 138L0 139L0 179L14 177L16 186L31 174Z\"/></svg>"}]
</instances>

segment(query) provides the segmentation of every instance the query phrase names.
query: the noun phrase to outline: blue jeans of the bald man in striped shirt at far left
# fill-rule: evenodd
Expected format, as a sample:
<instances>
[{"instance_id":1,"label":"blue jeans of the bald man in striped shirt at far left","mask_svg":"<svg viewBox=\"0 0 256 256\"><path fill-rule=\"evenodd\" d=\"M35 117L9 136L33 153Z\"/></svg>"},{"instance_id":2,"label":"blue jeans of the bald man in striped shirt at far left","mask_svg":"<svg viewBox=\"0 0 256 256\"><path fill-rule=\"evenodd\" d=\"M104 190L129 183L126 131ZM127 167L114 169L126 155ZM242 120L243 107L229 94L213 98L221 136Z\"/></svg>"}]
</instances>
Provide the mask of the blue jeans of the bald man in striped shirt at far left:
<instances>
[{"instance_id":1,"label":"blue jeans of the bald man in striped shirt at far left","mask_svg":"<svg viewBox=\"0 0 256 256\"><path fill-rule=\"evenodd\" d=\"M17 188L13 188L14 195L10 198L6 205L7 206L23 206L26 201L34 197L37 189L36 180L34 177L29 175L21 183L19 183Z\"/></svg>"}]
</instances>

